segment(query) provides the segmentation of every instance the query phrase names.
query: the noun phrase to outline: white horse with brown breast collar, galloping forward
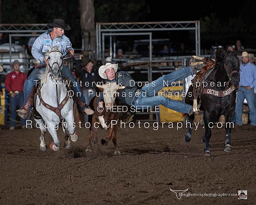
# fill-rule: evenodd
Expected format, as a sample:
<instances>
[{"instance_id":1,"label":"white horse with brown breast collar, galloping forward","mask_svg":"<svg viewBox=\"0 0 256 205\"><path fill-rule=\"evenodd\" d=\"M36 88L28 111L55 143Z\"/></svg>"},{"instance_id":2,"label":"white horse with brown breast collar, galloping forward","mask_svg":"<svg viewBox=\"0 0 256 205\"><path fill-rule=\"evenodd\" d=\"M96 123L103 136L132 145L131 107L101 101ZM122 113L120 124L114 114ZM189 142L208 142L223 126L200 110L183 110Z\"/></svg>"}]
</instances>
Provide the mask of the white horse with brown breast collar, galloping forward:
<instances>
[{"instance_id":1,"label":"white horse with brown breast collar, galloping forward","mask_svg":"<svg viewBox=\"0 0 256 205\"><path fill-rule=\"evenodd\" d=\"M39 78L41 87L37 90L36 111L42 119L35 119L40 126L40 150L46 151L45 133L51 134L54 142L50 148L58 151L61 141L58 139L57 130L62 126L65 133L64 148L71 148L69 137L76 141L78 136L75 132L72 97L68 96L68 91L61 79L62 69L61 46L49 47L49 53L46 54L48 65L45 72L41 72Z\"/></svg>"}]
</instances>

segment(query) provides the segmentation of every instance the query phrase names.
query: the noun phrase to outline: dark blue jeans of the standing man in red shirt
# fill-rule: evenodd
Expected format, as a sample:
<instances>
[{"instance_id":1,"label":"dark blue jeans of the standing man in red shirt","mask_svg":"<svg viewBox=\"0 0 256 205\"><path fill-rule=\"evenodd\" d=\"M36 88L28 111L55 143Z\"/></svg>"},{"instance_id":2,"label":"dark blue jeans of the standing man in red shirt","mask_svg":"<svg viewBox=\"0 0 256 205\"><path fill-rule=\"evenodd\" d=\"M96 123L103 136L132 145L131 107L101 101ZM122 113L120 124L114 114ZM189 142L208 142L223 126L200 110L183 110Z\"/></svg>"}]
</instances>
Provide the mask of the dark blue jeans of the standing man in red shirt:
<instances>
[{"instance_id":1,"label":"dark blue jeans of the standing man in red shirt","mask_svg":"<svg viewBox=\"0 0 256 205\"><path fill-rule=\"evenodd\" d=\"M10 127L15 127L17 106L22 107L24 100L23 93L16 94L14 98L10 96ZM21 126L26 125L26 119L20 119Z\"/></svg>"}]
</instances>

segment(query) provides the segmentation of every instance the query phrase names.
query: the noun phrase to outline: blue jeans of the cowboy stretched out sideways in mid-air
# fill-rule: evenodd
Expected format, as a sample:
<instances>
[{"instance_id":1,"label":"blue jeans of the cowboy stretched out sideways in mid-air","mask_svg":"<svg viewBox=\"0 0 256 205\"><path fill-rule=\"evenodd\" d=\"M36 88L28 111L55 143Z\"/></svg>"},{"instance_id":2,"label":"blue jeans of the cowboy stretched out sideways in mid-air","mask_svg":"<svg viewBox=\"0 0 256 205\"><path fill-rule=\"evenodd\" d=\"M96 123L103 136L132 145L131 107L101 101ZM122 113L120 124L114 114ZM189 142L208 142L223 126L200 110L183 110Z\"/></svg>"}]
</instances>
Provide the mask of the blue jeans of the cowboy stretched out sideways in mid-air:
<instances>
[{"instance_id":1,"label":"blue jeans of the cowboy stretched out sideways in mid-air","mask_svg":"<svg viewBox=\"0 0 256 205\"><path fill-rule=\"evenodd\" d=\"M169 73L167 75L162 75L159 79L154 80L149 83L148 86L143 86L141 88L141 94L136 99L134 106L137 109L143 109L141 106L165 106L171 110L175 110L177 112L189 113L190 110L193 110L193 106L185 104L181 101L169 99L162 95L157 95L157 93L166 85L164 83L168 83L168 86L172 86L172 82L177 80L184 79L190 75L193 75L194 71L190 66L183 67L177 71ZM144 109L146 109L144 107Z\"/></svg>"}]
</instances>

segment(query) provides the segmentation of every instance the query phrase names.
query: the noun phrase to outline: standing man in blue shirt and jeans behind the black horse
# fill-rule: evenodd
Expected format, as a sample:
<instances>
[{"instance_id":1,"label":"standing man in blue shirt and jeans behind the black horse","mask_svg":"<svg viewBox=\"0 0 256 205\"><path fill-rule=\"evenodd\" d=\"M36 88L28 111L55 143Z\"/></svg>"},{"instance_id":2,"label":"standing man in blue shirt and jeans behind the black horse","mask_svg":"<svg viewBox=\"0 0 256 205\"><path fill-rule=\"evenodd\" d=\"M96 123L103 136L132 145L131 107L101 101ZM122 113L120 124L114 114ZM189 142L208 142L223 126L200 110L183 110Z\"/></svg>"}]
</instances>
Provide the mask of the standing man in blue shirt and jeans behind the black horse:
<instances>
[{"instance_id":1,"label":"standing man in blue shirt and jeans behind the black horse","mask_svg":"<svg viewBox=\"0 0 256 205\"><path fill-rule=\"evenodd\" d=\"M247 100L249 106L250 125L256 126L256 105L254 87L256 85L256 66L249 62L249 54L242 53L242 64L240 65L239 89L236 93L236 124L242 126L243 101Z\"/></svg>"}]
</instances>

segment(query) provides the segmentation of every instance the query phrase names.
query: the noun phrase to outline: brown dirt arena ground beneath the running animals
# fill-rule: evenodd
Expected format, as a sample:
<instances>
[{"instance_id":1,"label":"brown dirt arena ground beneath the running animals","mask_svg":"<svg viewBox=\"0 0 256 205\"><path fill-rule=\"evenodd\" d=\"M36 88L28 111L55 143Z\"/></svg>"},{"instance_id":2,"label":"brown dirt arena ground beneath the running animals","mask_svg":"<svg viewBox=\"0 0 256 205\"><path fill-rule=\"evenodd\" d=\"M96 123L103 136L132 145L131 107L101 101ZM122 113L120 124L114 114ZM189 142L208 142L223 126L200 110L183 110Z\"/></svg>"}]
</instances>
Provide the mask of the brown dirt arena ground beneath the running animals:
<instances>
[{"instance_id":1,"label":"brown dirt arena ground beneath the running animals","mask_svg":"<svg viewBox=\"0 0 256 205\"><path fill-rule=\"evenodd\" d=\"M176 126L119 126L119 156L113 155L112 141L100 145L105 130L99 130L93 152L86 153L85 127L77 128L80 136L71 149L61 146L56 152L40 152L39 129L2 129L0 205L256 204L256 127L232 130L231 153L223 152L224 128L215 127L207 158L200 141L203 127L186 143L186 128ZM63 132L58 133L63 145ZM47 145L52 141L47 133ZM170 189L188 191L176 197ZM239 190L248 198L239 200Z\"/></svg>"}]
</instances>

